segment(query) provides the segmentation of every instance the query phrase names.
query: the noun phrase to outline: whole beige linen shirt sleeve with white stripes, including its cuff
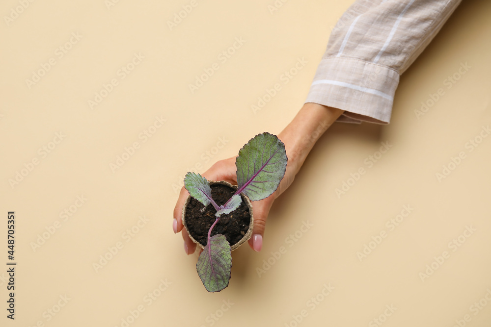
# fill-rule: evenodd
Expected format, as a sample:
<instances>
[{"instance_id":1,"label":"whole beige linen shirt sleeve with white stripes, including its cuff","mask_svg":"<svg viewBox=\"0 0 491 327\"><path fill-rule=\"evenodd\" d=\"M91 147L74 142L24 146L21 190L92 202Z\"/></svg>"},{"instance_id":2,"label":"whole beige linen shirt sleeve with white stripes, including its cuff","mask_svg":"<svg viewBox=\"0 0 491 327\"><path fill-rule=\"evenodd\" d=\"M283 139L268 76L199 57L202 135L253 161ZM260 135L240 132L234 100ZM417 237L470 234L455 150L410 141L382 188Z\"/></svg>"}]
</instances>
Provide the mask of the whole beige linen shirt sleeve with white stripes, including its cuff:
<instances>
[{"instance_id":1,"label":"whole beige linen shirt sleeve with white stripes, including its cuff","mask_svg":"<svg viewBox=\"0 0 491 327\"><path fill-rule=\"evenodd\" d=\"M388 124L399 76L461 0L357 0L332 30L305 102L339 122Z\"/></svg>"}]
</instances>

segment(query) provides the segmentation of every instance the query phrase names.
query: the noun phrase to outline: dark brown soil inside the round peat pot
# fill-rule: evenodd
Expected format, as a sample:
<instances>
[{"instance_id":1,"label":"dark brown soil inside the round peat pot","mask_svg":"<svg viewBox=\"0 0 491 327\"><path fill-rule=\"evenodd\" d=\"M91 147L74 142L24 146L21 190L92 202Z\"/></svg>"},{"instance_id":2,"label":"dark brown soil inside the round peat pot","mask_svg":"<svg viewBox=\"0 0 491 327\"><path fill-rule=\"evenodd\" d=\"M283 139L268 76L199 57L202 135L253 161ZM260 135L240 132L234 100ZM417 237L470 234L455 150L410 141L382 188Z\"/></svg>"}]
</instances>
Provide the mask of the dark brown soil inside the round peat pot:
<instances>
[{"instance_id":1,"label":"dark brown soil inside the round peat pot","mask_svg":"<svg viewBox=\"0 0 491 327\"><path fill-rule=\"evenodd\" d=\"M210 187L212 189L213 200L218 205L225 204L236 191L236 189L222 184L212 184ZM185 219L191 236L203 246L206 246L208 230L217 218L215 217L217 210L215 210L215 207L211 203L208 204L204 212L201 212L200 210L203 207L204 205L201 202L191 198L186 207ZM232 246L244 237L247 229L249 229L249 223L249 207L243 197L242 203L237 209L227 215L220 216L217 225L213 227L211 236L223 234Z\"/></svg>"}]
</instances>

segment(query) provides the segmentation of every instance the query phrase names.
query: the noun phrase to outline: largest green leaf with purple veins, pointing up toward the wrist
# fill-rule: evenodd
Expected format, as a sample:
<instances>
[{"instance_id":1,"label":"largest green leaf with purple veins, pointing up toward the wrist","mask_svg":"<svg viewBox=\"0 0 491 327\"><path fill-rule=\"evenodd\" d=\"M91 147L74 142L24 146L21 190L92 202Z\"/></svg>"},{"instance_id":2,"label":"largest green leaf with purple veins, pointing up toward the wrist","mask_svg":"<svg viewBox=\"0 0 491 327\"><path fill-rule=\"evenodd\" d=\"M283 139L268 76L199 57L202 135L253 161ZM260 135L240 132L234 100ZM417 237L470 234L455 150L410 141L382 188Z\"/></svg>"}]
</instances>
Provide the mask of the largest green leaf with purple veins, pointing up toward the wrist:
<instances>
[{"instance_id":1,"label":"largest green leaf with purple veins, pointing up toward the wrist","mask_svg":"<svg viewBox=\"0 0 491 327\"><path fill-rule=\"evenodd\" d=\"M276 135L264 132L254 136L235 161L236 194L244 193L251 201L269 197L283 179L287 161L285 145Z\"/></svg>"}]
</instances>

